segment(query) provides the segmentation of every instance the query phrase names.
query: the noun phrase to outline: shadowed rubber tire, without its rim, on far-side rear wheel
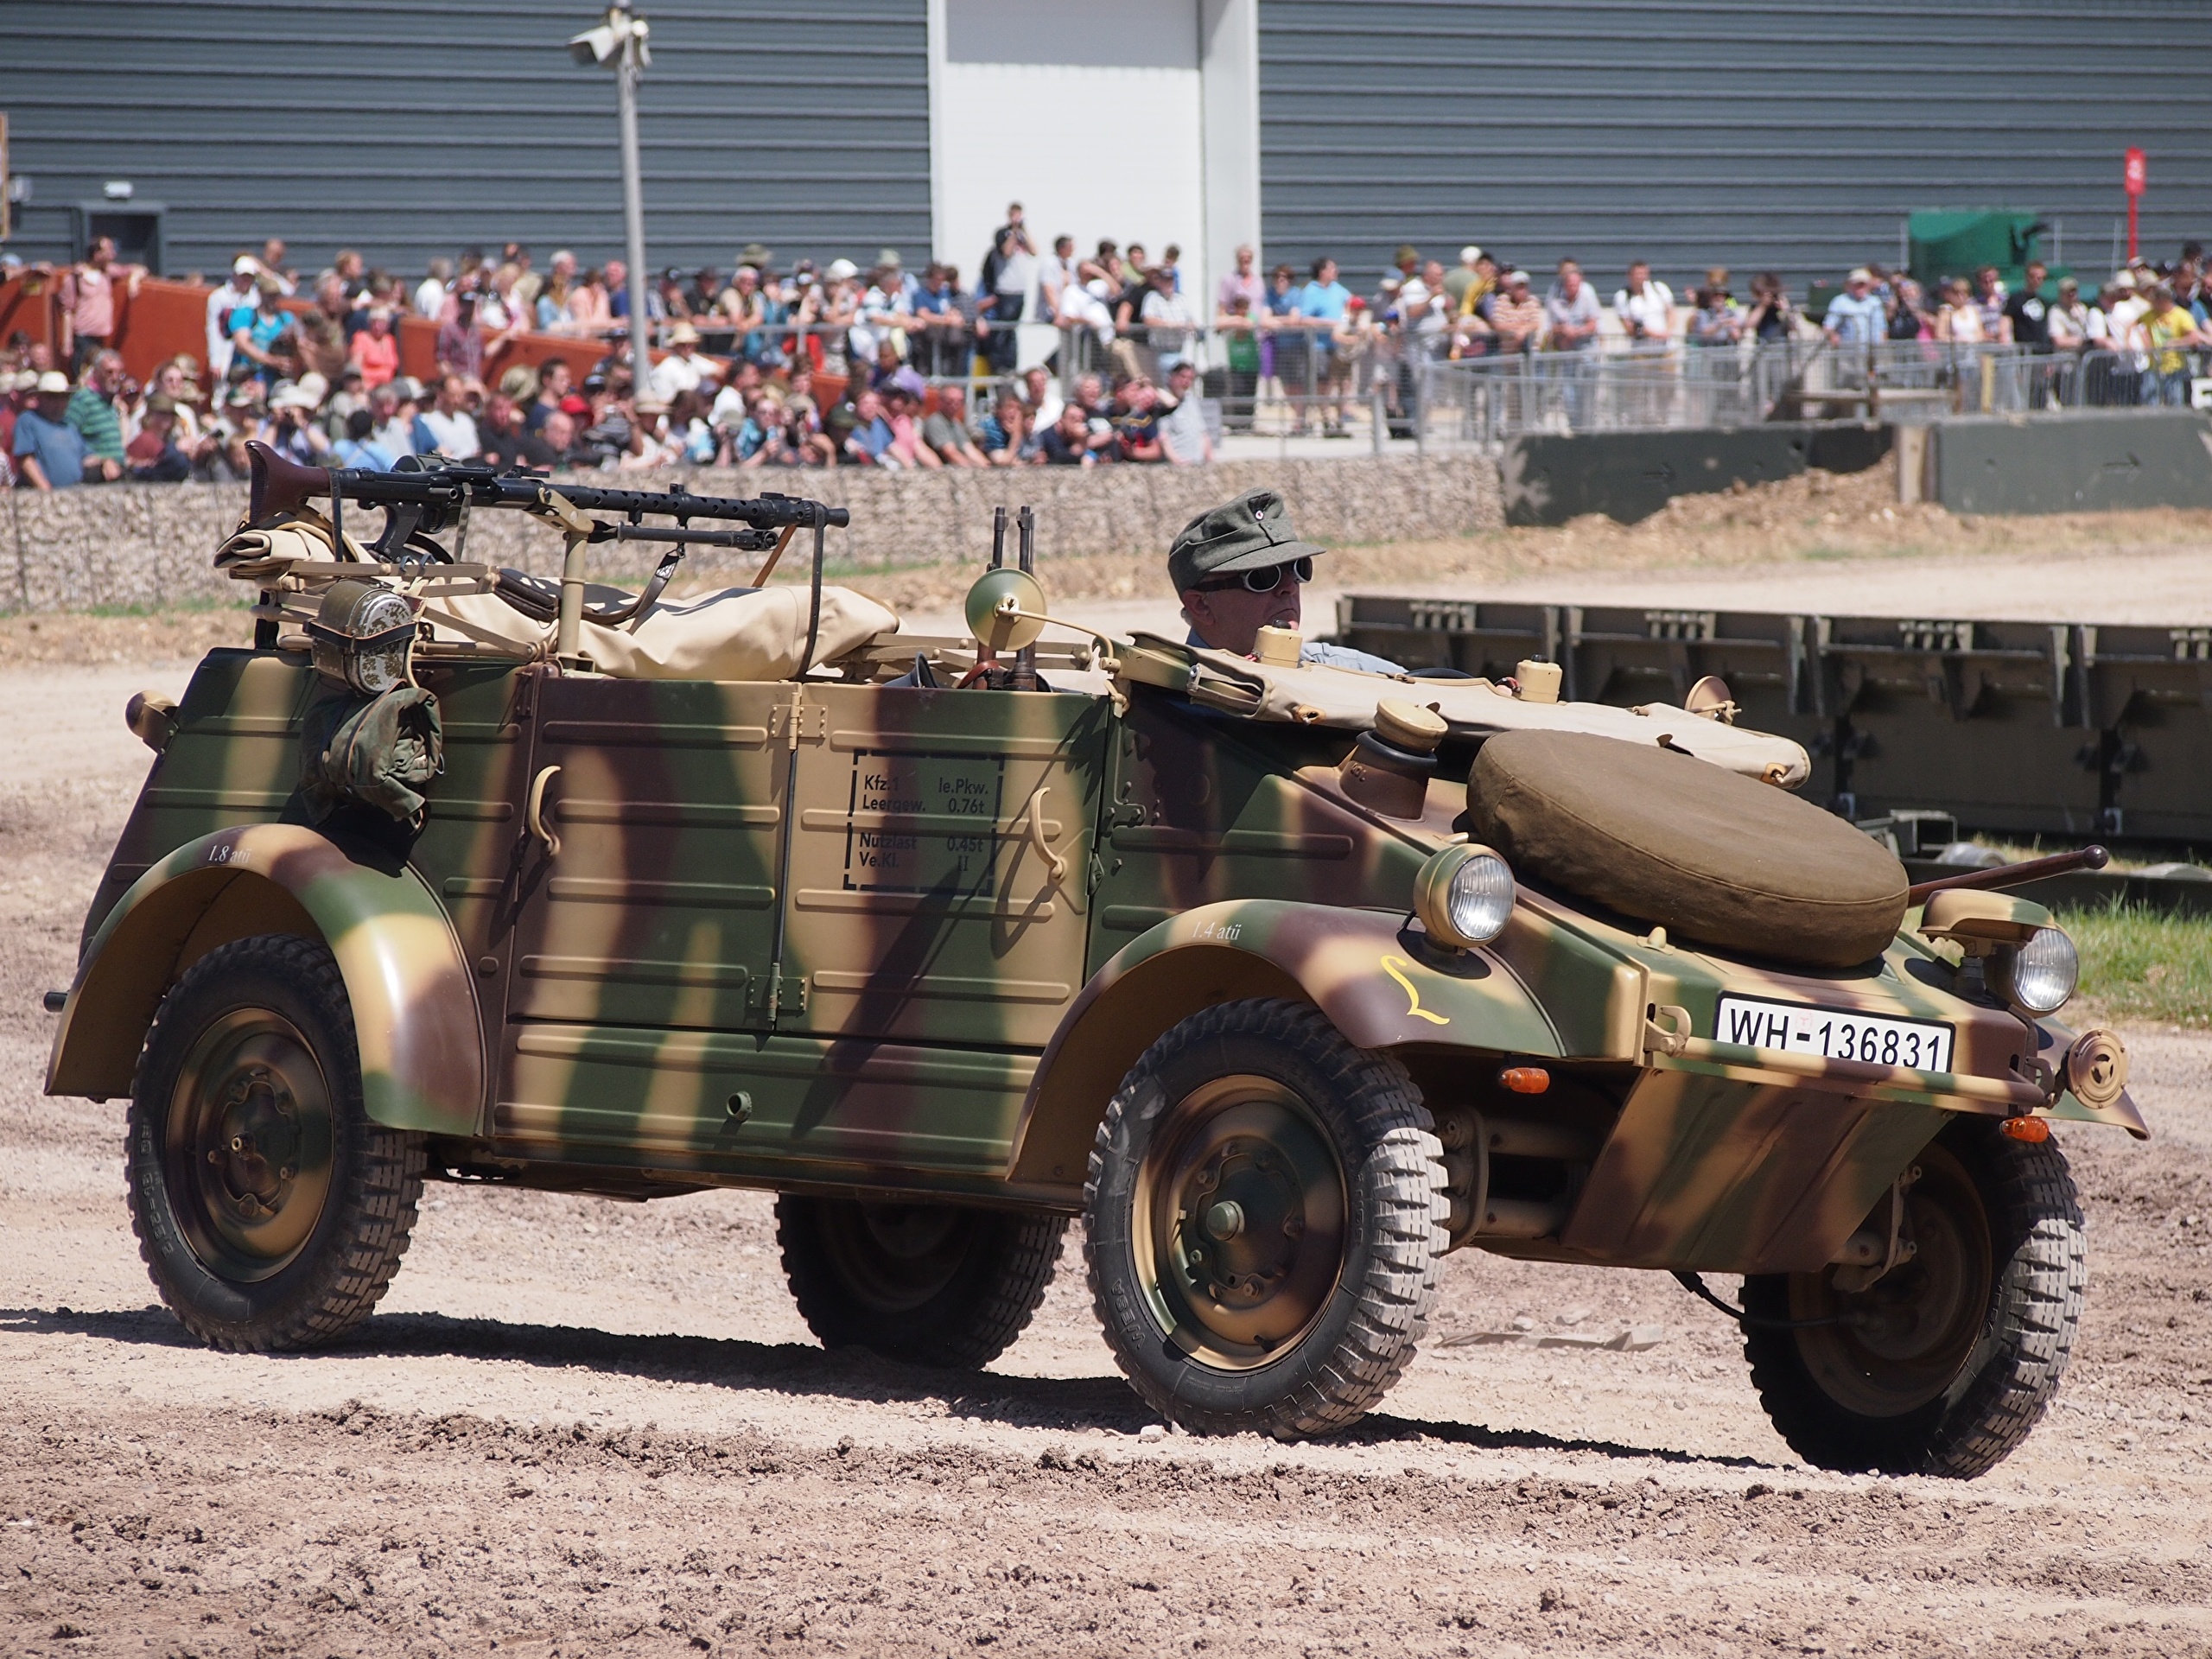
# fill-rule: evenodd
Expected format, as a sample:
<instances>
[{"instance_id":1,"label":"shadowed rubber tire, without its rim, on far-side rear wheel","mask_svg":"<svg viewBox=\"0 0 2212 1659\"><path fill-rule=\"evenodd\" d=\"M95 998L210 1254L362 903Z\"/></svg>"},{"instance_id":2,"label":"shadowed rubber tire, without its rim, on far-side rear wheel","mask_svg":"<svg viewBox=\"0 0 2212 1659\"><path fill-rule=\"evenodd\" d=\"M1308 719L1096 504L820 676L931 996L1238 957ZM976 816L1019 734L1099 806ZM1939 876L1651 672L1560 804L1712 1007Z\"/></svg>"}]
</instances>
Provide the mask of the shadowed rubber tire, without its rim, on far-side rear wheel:
<instances>
[{"instance_id":1,"label":"shadowed rubber tire, without its rim, on far-side rear wheel","mask_svg":"<svg viewBox=\"0 0 2212 1659\"><path fill-rule=\"evenodd\" d=\"M987 1259L920 1314L885 1318L852 1298L821 1243L836 1203L796 1192L776 1199L776 1248L799 1316L823 1347L865 1347L940 1371L980 1371L1013 1347L1044 1303L1068 1230L1064 1214L978 1210Z\"/></svg>"}]
</instances>

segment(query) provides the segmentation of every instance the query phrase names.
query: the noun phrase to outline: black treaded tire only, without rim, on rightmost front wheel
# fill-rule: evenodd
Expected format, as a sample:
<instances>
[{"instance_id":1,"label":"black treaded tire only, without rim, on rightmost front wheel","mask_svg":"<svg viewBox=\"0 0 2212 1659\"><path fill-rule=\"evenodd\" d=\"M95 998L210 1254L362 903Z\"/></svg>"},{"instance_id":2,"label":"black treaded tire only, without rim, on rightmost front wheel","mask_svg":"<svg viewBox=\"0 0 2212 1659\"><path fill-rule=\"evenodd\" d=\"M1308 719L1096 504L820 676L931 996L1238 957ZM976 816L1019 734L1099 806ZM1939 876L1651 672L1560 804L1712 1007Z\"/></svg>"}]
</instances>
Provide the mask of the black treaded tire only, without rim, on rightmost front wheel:
<instances>
[{"instance_id":1,"label":"black treaded tire only, without rim, on rightmost front wheel","mask_svg":"<svg viewBox=\"0 0 2212 1659\"><path fill-rule=\"evenodd\" d=\"M1860 1418L1812 1380L1790 1332L1743 1327L1761 1405L1790 1449L1818 1469L1984 1475L2028 1438L2066 1374L2088 1294L2088 1223L2066 1155L2057 1141L1997 1135L1980 1117L1953 1124L1942 1146L1982 1190L1997 1279L1962 1385L1902 1418ZM1787 1276L1745 1279L1743 1307L1787 1318Z\"/></svg>"}]
</instances>

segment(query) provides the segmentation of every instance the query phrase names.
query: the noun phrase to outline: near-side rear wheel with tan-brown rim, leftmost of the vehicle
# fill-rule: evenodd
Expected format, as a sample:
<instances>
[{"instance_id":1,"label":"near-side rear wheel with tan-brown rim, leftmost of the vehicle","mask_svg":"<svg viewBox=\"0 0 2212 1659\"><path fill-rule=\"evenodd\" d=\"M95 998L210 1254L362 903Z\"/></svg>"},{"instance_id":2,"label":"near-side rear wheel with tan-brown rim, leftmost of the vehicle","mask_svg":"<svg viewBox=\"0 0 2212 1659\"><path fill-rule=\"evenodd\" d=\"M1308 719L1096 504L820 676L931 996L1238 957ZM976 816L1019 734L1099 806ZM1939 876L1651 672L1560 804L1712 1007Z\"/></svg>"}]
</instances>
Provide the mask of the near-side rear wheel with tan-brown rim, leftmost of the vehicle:
<instances>
[{"instance_id":1,"label":"near-side rear wheel with tan-brown rim, leftmost of the vehicle","mask_svg":"<svg viewBox=\"0 0 2212 1659\"><path fill-rule=\"evenodd\" d=\"M363 1110L338 964L288 933L221 945L170 987L124 1166L161 1301L241 1354L321 1347L367 1318L422 1197L422 1137Z\"/></svg>"}]
</instances>

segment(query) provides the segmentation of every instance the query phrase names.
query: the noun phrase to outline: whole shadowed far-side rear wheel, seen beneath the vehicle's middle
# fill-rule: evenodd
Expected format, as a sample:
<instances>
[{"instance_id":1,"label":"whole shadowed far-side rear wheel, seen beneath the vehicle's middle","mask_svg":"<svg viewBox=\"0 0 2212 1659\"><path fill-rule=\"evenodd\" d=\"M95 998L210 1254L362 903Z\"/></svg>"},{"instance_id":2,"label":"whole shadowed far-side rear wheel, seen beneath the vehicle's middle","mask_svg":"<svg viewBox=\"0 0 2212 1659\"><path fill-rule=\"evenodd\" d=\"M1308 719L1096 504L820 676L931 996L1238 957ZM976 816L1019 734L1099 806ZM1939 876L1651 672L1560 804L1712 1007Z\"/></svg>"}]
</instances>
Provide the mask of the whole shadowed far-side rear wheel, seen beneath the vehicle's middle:
<instances>
[{"instance_id":1,"label":"whole shadowed far-side rear wheel, seen beneath the vehicle's middle","mask_svg":"<svg viewBox=\"0 0 2212 1659\"><path fill-rule=\"evenodd\" d=\"M1029 1325L1068 1219L951 1203L776 1199L799 1316L823 1347L980 1371Z\"/></svg>"}]
</instances>

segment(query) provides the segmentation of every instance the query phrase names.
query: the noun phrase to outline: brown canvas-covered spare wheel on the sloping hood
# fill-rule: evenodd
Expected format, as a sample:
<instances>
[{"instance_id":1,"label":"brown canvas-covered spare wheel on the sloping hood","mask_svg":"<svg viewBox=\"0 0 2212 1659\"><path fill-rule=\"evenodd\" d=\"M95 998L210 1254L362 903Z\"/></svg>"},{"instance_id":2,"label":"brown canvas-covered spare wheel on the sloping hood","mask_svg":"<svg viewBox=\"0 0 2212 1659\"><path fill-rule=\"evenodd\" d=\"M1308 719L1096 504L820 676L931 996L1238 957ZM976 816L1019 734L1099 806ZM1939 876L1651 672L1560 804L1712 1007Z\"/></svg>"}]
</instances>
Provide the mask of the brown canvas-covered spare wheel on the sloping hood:
<instances>
[{"instance_id":1,"label":"brown canvas-covered spare wheel on the sloping hood","mask_svg":"<svg viewBox=\"0 0 2212 1659\"><path fill-rule=\"evenodd\" d=\"M1851 967L1905 920L1905 865L1772 783L1584 732L1500 732L1467 779L1475 836L1522 874L1730 951Z\"/></svg>"}]
</instances>

